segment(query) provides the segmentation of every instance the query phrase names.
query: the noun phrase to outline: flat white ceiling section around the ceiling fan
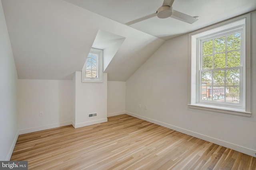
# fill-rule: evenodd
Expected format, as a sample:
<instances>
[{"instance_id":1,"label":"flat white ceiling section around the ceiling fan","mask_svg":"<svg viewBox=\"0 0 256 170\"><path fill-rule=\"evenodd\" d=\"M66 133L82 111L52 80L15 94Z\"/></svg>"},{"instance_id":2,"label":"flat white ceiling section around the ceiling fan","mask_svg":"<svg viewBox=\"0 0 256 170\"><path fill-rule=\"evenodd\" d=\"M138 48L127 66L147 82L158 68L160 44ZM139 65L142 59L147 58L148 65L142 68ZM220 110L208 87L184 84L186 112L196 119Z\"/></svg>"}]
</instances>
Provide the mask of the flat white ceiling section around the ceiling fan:
<instances>
[{"instance_id":1,"label":"flat white ceiling section around the ceiling fan","mask_svg":"<svg viewBox=\"0 0 256 170\"><path fill-rule=\"evenodd\" d=\"M155 13L164 0L66 0L120 23ZM173 10L199 16L193 24L174 18L157 17L130 25L135 29L170 39L196 29L256 10L256 0L174 0Z\"/></svg>"}]
</instances>

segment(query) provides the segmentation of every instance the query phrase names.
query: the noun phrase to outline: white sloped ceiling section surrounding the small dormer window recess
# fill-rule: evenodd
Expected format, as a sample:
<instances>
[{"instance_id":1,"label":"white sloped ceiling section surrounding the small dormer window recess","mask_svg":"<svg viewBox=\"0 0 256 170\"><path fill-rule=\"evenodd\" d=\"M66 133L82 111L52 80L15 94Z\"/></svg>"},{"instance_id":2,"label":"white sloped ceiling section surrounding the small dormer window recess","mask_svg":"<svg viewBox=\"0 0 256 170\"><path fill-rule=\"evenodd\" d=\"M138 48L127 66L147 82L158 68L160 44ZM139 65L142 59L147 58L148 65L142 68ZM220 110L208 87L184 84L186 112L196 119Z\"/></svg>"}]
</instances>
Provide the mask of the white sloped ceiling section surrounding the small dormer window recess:
<instances>
[{"instance_id":1,"label":"white sloped ceiling section surrounding the small dormer window recess","mask_svg":"<svg viewBox=\"0 0 256 170\"><path fill-rule=\"evenodd\" d=\"M126 81L164 40L63 0L2 0L19 79L72 80L98 30L125 37L105 72Z\"/></svg>"}]
</instances>

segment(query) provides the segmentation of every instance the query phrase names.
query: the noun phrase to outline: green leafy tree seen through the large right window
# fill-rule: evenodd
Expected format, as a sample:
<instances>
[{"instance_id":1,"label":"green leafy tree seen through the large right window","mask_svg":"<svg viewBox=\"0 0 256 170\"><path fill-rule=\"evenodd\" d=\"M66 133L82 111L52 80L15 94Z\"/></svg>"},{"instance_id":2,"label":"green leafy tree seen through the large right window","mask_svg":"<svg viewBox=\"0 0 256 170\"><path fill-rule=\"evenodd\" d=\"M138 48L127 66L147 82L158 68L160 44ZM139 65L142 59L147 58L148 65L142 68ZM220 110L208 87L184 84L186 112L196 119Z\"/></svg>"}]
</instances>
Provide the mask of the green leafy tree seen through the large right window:
<instances>
[{"instance_id":1,"label":"green leafy tree seen through the large right window","mask_svg":"<svg viewBox=\"0 0 256 170\"><path fill-rule=\"evenodd\" d=\"M240 70L227 68L240 66L240 44L240 32L202 43L202 69L206 70L202 71L202 82L213 86L226 85L228 88L226 96L231 97L232 102L235 98L239 99ZM220 70L211 71L216 68Z\"/></svg>"}]
</instances>

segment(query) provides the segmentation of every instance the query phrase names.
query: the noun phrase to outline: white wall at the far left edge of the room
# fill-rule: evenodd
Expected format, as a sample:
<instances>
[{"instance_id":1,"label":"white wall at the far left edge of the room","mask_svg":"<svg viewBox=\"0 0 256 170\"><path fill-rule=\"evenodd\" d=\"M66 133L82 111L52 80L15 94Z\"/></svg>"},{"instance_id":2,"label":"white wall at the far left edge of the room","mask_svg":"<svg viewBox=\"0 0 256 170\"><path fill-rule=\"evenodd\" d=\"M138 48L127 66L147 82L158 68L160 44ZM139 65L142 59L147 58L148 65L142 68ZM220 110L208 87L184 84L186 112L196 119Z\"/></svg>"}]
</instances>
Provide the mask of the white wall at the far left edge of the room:
<instances>
[{"instance_id":1,"label":"white wall at the far left edge of the room","mask_svg":"<svg viewBox=\"0 0 256 170\"><path fill-rule=\"evenodd\" d=\"M18 137L17 72L0 3L0 160L10 160Z\"/></svg>"}]
</instances>

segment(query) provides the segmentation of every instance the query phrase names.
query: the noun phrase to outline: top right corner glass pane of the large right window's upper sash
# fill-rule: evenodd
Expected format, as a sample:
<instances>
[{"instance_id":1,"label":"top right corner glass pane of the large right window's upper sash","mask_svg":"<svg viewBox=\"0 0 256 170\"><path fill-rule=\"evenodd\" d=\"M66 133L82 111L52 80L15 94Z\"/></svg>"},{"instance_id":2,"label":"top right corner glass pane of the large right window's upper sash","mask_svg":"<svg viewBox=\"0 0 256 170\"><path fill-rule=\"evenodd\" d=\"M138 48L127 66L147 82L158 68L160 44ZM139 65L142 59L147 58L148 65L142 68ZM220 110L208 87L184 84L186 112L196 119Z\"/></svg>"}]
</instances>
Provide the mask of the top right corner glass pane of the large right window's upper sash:
<instances>
[{"instance_id":1,"label":"top right corner glass pane of the large right window's upper sash","mask_svg":"<svg viewBox=\"0 0 256 170\"><path fill-rule=\"evenodd\" d=\"M234 33L232 35L228 35L227 40L228 51L240 49L241 33Z\"/></svg>"}]
</instances>

